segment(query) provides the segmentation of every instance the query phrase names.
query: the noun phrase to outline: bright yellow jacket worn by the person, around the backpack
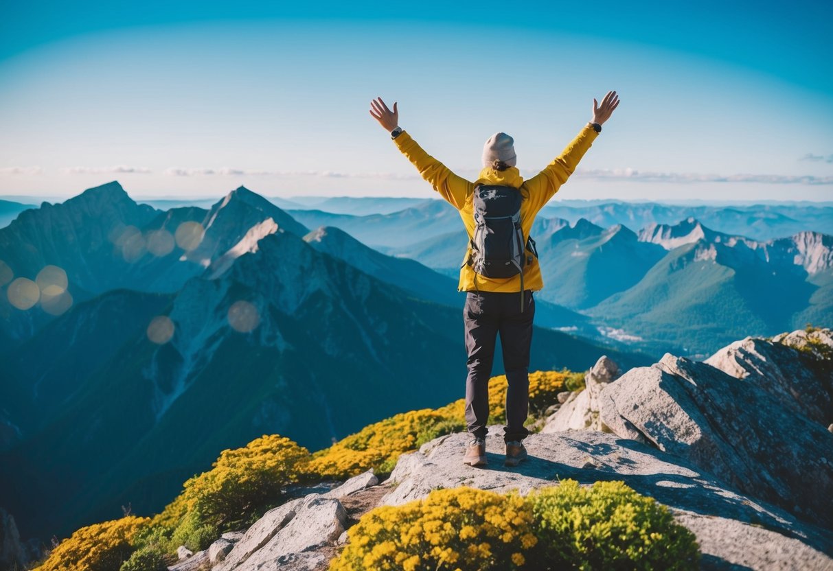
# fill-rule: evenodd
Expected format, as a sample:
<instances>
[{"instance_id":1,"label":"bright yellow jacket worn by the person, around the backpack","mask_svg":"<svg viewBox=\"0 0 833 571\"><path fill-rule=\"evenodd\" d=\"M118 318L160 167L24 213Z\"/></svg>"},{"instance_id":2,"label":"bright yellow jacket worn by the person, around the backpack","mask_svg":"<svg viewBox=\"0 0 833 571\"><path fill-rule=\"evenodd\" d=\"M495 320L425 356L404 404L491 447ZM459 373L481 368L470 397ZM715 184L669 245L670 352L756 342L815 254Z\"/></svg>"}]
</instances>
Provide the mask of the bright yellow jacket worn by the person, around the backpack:
<instances>
[{"instance_id":1,"label":"bright yellow jacket worn by the person, around the backpack","mask_svg":"<svg viewBox=\"0 0 833 571\"><path fill-rule=\"evenodd\" d=\"M507 293L521 290L521 276L510 278L487 278L476 274L473 268L465 261L471 256L471 239L474 236L474 211L472 197L474 188L478 184L514 186L521 191L523 201L521 202L521 229L524 242L529 237L532 222L541 208L546 205L552 196L564 184L567 178L576 170L578 161L596 140L598 133L589 124L586 125L576 138L567 145L561 155L556 156L543 171L524 181L521 172L515 166L506 171L496 171L493 168L484 168L480 171L479 178L474 181L466 181L461 176L456 176L451 170L430 156L419 146L416 141L403 131L393 142L402 154L416 166L422 178L431 183L434 190L446 199L451 206L460 212L466 232L469 236L469 245L466 248L466 256L463 258L463 265L460 268L460 282L457 285L458 291L503 291ZM534 236L533 236L534 237ZM532 256L532 263L524 266L524 289L541 290L544 281L541 279L541 266L538 260Z\"/></svg>"}]
</instances>

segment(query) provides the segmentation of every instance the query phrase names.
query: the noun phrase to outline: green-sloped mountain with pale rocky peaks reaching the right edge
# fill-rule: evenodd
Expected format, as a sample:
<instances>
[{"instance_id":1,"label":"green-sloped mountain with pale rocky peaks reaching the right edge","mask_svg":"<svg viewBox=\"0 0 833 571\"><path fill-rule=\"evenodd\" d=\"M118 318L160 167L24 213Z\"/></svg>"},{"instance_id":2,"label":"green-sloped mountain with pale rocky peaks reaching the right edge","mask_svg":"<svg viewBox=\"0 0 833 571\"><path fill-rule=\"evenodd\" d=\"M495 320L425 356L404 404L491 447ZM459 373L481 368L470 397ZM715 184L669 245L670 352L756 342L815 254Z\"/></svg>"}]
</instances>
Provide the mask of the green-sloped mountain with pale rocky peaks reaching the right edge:
<instances>
[{"instance_id":1,"label":"green-sloped mountain with pale rocky peaks reaching the right edge","mask_svg":"<svg viewBox=\"0 0 833 571\"><path fill-rule=\"evenodd\" d=\"M768 242L710 241L706 232L668 251L636 285L587 313L691 355L741 331L775 335L809 316L826 324L833 320L831 247L831 236L815 232Z\"/></svg>"}]
</instances>

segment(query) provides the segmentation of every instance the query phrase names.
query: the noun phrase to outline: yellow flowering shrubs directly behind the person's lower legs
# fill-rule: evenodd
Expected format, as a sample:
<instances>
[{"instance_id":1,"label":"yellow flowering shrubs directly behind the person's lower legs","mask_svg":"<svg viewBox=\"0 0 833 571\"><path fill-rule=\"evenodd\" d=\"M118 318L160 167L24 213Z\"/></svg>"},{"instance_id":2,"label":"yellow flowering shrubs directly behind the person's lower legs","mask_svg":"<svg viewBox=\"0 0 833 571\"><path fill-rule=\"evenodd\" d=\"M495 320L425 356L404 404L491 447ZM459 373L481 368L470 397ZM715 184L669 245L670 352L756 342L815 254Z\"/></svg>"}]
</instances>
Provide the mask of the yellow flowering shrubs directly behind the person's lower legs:
<instances>
[{"instance_id":1,"label":"yellow flowering shrubs directly behind the person's lower legs","mask_svg":"<svg viewBox=\"0 0 833 571\"><path fill-rule=\"evenodd\" d=\"M529 375L529 408L531 415L541 415L557 402L556 395L566 390L582 375L562 371L535 371ZM489 421L506 422L506 375L489 380ZM466 430L466 400L459 399L438 409L411 410L393 415L351 434L330 448L312 454L307 466L311 474L322 478L345 479L374 469L387 474L399 456L418 449L422 444L443 434Z\"/></svg>"}]
</instances>

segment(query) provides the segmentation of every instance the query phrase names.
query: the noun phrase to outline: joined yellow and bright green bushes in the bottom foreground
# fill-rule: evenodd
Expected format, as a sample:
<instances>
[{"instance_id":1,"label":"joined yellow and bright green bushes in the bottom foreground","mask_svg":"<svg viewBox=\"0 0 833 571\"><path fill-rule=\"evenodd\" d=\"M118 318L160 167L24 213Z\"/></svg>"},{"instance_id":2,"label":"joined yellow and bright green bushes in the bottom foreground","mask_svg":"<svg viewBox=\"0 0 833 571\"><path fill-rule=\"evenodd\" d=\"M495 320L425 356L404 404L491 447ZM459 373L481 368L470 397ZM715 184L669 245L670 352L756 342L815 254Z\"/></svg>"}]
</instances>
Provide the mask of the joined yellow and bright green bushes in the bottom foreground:
<instances>
[{"instance_id":1,"label":"joined yellow and bright green bushes in the bottom foreground","mask_svg":"<svg viewBox=\"0 0 833 571\"><path fill-rule=\"evenodd\" d=\"M622 482L496 494L465 486L368 512L331 571L698 569L694 534Z\"/></svg>"}]
</instances>

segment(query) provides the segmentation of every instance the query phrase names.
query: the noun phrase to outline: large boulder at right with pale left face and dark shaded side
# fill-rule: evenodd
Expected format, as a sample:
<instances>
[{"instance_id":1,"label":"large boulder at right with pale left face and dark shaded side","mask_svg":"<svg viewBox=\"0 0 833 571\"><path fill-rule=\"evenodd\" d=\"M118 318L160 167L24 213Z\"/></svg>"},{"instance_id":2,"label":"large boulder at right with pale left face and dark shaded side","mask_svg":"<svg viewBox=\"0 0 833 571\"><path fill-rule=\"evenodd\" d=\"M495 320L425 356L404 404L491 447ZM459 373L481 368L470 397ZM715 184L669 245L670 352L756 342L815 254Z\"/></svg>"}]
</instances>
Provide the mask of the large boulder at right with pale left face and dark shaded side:
<instances>
[{"instance_id":1,"label":"large boulder at right with pale left face and dark shaded side","mask_svg":"<svg viewBox=\"0 0 833 571\"><path fill-rule=\"evenodd\" d=\"M833 434L771 392L705 363L664 355L607 385L601 423L676 454L732 489L830 527Z\"/></svg>"}]
</instances>

